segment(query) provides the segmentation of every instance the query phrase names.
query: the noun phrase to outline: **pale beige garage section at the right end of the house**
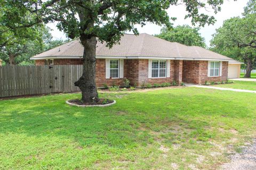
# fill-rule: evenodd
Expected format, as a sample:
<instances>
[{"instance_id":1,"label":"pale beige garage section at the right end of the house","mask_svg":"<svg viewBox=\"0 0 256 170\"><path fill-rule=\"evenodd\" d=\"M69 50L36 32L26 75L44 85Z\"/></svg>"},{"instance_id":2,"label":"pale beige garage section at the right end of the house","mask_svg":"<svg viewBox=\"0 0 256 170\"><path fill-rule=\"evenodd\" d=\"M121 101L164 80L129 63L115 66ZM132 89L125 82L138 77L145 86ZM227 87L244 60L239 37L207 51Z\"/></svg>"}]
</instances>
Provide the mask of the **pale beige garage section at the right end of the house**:
<instances>
[{"instance_id":1,"label":"pale beige garage section at the right end of the house","mask_svg":"<svg viewBox=\"0 0 256 170\"><path fill-rule=\"evenodd\" d=\"M240 78L241 64L243 63L238 62L236 60L231 60L228 62L228 78L229 79Z\"/></svg>"}]
</instances>

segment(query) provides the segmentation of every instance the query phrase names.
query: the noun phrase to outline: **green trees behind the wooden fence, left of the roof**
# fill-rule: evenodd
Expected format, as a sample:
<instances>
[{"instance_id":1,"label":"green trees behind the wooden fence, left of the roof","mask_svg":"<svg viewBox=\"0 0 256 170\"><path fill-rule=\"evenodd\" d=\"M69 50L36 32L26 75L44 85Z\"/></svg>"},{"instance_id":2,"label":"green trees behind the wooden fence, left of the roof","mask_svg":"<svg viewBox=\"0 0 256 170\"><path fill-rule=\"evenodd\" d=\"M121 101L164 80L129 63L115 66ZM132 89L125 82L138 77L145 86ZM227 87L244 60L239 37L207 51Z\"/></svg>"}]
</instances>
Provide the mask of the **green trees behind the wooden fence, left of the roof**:
<instances>
[{"instance_id":1,"label":"green trees behind the wooden fence, left of the roof","mask_svg":"<svg viewBox=\"0 0 256 170\"><path fill-rule=\"evenodd\" d=\"M49 50L64 43L62 40L52 40L50 28L44 25L33 26L33 32L24 33L23 36L13 38L0 47L0 58L10 65L33 65L30 57ZM33 36L27 34L33 33Z\"/></svg>"}]
</instances>

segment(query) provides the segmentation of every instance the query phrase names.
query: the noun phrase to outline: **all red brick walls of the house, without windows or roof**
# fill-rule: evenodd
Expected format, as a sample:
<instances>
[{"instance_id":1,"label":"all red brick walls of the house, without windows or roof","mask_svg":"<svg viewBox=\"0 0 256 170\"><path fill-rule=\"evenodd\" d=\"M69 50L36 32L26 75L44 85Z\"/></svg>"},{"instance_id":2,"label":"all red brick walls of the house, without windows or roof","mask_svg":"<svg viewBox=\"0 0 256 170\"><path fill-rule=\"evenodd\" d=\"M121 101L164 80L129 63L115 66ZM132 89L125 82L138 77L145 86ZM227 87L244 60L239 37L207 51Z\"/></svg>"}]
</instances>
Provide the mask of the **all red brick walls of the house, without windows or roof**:
<instances>
[{"instance_id":1,"label":"all red brick walls of the house, without windows or roof","mask_svg":"<svg viewBox=\"0 0 256 170\"><path fill-rule=\"evenodd\" d=\"M36 60L36 65L44 65L45 60ZM80 59L57 59L55 65L82 64ZM173 80L177 83L190 82L203 84L207 81L225 81L228 77L228 62L222 62L222 76L208 77L207 61L171 61L170 78L148 78L148 60L124 60L124 78L130 80L131 84L140 86L145 83L164 83ZM98 87L103 87L106 83L108 86L116 84L123 86L123 79L106 79L106 61L105 59L96 60L96 83Z\"/></svg>"}]
</instances>

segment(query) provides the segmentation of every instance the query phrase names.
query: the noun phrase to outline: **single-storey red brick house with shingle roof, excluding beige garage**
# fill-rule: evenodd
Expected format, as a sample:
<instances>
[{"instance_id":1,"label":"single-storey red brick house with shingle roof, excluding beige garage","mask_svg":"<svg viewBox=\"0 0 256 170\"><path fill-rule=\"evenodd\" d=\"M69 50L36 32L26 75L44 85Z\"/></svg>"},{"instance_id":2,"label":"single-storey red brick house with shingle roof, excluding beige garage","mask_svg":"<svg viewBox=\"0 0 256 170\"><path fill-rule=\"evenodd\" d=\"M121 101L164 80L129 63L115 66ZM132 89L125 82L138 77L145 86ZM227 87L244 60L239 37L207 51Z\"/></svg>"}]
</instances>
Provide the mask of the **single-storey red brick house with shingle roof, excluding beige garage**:
<instances>
[{"instance_id":1,"label":"single-storey red brick house with shingle roof, excluding beige garage","mask_svg":"<svg viewBox=\"0 0 256 170\"><path fill-rule=\"evenodd\" d=\"M47 52L31 57L36 65L83 64L83 46L71 41ZM97 43L96 83L102 87L122 85L124 78L131 84L226 81L228 64L233 59L197 46L185 46L141 33L125 34L120 44L112 48Z\"/></svg>"}]
</instances>

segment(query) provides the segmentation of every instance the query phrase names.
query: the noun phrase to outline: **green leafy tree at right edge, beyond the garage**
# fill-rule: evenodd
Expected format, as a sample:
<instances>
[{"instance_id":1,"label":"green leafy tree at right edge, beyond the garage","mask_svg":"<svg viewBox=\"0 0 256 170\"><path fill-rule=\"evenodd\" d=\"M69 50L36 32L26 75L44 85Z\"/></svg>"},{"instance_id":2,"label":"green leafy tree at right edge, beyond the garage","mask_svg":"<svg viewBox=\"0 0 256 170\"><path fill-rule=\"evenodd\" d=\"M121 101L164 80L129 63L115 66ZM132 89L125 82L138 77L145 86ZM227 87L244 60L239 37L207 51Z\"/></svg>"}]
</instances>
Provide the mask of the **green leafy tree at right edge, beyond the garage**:
<instances>
[{"instance_id":1,"label":"green leafy tree at right edge, beyond the garage","mask_svg":"<svg viewBox=\"0 0 256 170\"><path fill-rule=\"evenodd\" d=\"M254 4L255 5L255 4ZM245 7L246 9L246 7ZM223 22L211 40L211 49L246 63L246 78L256 66L256 13L244 13Z\"/></svg>"}]
</instances>

